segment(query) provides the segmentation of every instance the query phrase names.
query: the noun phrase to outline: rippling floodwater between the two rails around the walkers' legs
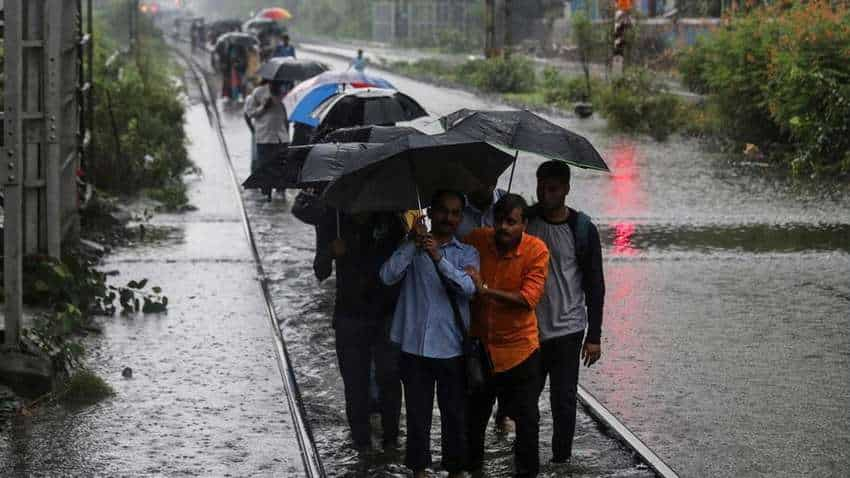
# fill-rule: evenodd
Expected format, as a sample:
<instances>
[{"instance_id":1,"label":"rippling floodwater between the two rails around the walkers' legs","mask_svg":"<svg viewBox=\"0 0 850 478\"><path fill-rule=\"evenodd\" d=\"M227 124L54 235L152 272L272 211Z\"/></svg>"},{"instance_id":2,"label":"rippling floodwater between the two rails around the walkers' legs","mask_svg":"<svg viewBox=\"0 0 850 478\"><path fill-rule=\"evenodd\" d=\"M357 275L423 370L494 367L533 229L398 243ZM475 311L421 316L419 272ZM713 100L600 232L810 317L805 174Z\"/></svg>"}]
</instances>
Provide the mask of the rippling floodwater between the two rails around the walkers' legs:
<instances>
[{"instance_id":1,"label":"rippling floodwater between the two rails around the walkers' legs","mask_svg":"<svg viewBox=\"0 0 850 478\"><path fill-rule=\"evenodd\" d=\"M199 62L203 59L199 58ZM201 63L203 65L203 63ZM215 81L215 78L211 78ZM242 118L241 105L218 101L228 149L238 174L249 174L250 135ZM313 276L314 234L308 226L289 214L294 197L276 195L267 202L259 192L246 191L243 199L251 219L263 265L269 276L281 330L286 339L299 387L304 397L316 443L329 476L406 476L402 451L384 452L378 447L360 455L351 447L345 421L342 380L337 368L333 329L333 280L319 284ZM548 392L547 392L548 393ZM544 410L547 406L544 406ZM432 449L439 462L439 414L435 410ZM588 415L579 412L575 443L575 464L544 465L542 476L612 476L649 477L653 474L638 465L613 438L597 428ZM402 431L402 433L404 433ZM551 417L544 413L541 456L551 457ZM402 438L403 442L403 438ZM510 476L512 471L512 437L490 433L487 448L487 471L490 476Z\"/></svg>"}]
</instances>

